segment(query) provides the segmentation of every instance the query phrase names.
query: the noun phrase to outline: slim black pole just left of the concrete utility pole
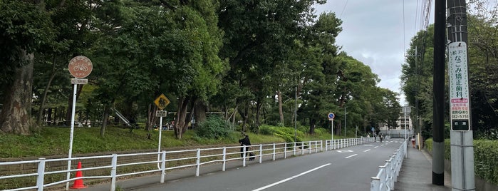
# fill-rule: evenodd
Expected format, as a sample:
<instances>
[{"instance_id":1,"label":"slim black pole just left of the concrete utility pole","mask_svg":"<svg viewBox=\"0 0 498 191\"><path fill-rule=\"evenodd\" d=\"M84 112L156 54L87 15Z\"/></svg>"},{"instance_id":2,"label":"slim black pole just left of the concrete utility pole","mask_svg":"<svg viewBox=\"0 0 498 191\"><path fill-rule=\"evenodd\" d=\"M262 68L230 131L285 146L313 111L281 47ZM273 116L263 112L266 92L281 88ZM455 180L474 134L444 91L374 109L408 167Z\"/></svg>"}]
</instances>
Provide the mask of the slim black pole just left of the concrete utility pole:
<instances>
[{"instance_id":1,"label":"slim black pole just left of the concrete utility pole","mask_svg":"<svg viewBox=\"0 0 498 191\"><path fill-rule=\"evenodd\" d=\"M450 1L450 0L448 0ZM434 73L432 81L432 184L445 185L445 26L446 2L434 4Z\"/></svg>"}]
</instances>

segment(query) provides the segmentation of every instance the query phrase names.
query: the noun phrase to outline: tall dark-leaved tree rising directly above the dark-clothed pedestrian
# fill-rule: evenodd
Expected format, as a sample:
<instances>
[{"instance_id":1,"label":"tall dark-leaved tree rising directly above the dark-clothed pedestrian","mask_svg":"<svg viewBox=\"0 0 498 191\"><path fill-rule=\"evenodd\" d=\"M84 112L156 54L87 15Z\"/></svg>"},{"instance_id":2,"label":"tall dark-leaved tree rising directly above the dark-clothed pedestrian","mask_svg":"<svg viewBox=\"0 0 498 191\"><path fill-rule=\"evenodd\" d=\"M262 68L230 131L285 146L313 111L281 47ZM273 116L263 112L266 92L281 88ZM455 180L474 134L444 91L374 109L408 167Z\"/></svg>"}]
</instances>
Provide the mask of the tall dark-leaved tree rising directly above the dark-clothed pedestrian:
<instances>
[{"instance_id":1,"label":"tall dark-leaved tree rising directly above the dark-clothed pedestrian","mask_svg":"<svg viewBox=\"0 0 498 191\"><path fill-rule=\"evenodd\" d=\"M237 84L244 94L234 98L244 121L245 130L249 108L254 107L255 125L266 97L278 90L274 69L287 61L294 40L306 29L313 17L307 1L220 1L219 27L224 31L224 46L220 56L229 60L231 71L224 83Z\"/></svg>"}]
</instances>

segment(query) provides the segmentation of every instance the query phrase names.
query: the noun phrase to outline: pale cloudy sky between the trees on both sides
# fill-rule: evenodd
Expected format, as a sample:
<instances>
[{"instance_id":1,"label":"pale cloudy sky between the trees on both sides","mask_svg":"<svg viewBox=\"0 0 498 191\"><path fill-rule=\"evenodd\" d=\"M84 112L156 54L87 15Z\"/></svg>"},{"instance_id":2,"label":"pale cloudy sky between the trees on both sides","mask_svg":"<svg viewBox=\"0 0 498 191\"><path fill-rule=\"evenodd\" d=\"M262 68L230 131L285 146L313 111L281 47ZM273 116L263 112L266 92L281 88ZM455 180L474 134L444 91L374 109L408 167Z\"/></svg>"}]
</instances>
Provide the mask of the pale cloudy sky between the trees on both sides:
<instances>
[{"instance_id":1,"label":"pale cloudy sky between the trees on both sides","mask_svg":"<svg viewBox=\"0 0 498 191\"><path fill-rule=\"evenodd\" d=\"M317 13L336 13L343 21L343 31L336 44L348 55L370 66L381 80L378 86L401 94L404 53L410 48L410 39L422 29L422 2L419 1L328 0L315 8ZM430 24L434 23L433 9L434 4ZM405 96L401 94L399 98L401 105L405 105Z\"/></svg>"}]
</instances>

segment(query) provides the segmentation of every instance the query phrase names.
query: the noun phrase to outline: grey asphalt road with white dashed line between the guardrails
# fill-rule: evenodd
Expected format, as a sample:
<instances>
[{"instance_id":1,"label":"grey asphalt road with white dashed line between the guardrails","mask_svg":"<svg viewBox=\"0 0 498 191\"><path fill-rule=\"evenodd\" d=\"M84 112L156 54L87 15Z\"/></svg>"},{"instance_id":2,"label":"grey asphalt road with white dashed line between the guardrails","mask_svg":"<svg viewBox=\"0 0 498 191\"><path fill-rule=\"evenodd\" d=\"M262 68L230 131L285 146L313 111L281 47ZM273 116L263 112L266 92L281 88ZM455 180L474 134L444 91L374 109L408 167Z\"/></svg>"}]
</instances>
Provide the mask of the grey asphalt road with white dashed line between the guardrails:
<instances>
[{"instance_id":1,"label":"grey asphalt road with white dashed line between the guardrails","mask_svg":"<svg viewBox=\"0 0 498 191\"><path fill-rule=\"evenodd\" d=\"M251 163L225 172L172 180L137 190L370 190L377 175L402 143L391 139L286 160Z\"/></svg>"}]
</instances>

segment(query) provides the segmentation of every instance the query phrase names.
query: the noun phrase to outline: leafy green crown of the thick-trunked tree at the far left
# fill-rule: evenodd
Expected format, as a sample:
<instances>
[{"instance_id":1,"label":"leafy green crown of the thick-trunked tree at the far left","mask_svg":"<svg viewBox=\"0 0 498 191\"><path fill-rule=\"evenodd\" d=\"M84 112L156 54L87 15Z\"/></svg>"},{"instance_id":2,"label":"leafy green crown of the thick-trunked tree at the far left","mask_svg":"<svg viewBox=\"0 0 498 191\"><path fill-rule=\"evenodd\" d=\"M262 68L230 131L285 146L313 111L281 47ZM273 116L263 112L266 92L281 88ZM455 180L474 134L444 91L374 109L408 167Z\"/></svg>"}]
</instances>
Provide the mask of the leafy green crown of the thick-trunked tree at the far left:
<instances>
[{"instance_id":1,"label":"leafy green crown of the thick-trunked tree at the far left","mask_svg":"<svg viewBox=\"0 0 498 191\"><path fill-rule=\"evenodd\" d=\"M42 51L42 47L53 40L54 30L50 16L39 8L37 4L28 1L0 2L2 90L14 81L15 70L26 64L25 54Z\"/></svg>"}]
</instances>

